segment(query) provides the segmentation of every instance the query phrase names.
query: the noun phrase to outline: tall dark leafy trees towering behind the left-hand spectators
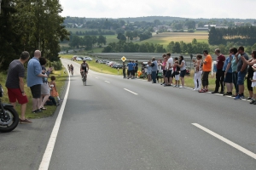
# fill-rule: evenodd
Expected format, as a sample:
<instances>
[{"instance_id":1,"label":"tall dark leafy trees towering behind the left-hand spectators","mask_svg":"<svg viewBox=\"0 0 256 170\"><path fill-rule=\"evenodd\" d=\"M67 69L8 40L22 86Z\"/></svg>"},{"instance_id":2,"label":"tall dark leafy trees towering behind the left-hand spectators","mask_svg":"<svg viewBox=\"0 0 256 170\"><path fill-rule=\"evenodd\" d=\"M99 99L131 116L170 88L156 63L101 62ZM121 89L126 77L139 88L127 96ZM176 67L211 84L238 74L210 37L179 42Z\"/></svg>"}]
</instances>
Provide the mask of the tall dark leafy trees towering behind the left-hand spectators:
<instances>
[{"instance_id":1,"label":"tall dark leafy trees towering behind the left-hand spectators","mask_svg":"<svg viewBox=\"0 0 256 170\"><path fill-rule=\"evenodd\" d=\"M22 51L31 56L36 49L49 60L57 60L59 42L68 39L62 26L61 4L58 0L2 0L0 14L0 63L7 69Z\"/></svg>"}]
</instances>

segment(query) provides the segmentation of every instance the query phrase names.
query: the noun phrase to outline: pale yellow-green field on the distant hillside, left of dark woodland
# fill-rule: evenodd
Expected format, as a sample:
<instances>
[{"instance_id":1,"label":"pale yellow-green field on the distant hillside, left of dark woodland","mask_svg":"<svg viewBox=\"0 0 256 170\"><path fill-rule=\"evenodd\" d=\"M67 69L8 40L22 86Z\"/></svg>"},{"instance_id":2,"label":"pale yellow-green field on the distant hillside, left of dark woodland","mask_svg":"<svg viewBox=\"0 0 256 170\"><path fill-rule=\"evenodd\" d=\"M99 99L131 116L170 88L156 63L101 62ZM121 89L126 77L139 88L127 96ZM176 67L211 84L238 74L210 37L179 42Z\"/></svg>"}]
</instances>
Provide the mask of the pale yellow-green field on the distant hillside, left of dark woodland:
<instances>
[{"instance_id":1,"label":"pale yellow-green field on the distant hillside, left of dark woodland","mask_svg":"<svg viewBox=\"0 0 256 170\"><path fill-rule=\"evenodd\" d=\"M195 31L194 33L189 32L163 32L160 34L154 34L153 37L144 40L140 43L160 43L164 45L164 48L167 47L167 45L170 42L192 42L193 39L196 39L197 42L208 42L208 32L204 31Z\"/></svg>"}]
</instances>

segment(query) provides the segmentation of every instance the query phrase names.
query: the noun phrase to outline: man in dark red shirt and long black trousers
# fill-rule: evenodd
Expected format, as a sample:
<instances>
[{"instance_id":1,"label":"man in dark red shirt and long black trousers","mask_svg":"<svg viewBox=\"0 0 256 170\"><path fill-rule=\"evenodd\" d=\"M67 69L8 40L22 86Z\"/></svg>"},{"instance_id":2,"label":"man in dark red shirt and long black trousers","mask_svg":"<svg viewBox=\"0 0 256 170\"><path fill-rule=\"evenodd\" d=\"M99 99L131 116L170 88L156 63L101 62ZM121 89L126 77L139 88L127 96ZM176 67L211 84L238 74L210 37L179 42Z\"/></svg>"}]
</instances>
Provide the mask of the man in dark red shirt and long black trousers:
<instances>
[{"instance_id":1,"label":"man in dark red shirt and long black trousers","mask_svg":"<svg viewBox=\"0 0 256 170\"><path fill-rule=\"evenodd\" d=\"M212 92L212 94L224 94L224 71L223 71L223 65L225 62L225 56L220 53L220 50L217 48L215 49L215 54L218 56L217 58L217 72L216 72L216 81L215 81L215 90ZM219 84L221 87L220 92L218 92Z\"/></svg>"}]
</instances>

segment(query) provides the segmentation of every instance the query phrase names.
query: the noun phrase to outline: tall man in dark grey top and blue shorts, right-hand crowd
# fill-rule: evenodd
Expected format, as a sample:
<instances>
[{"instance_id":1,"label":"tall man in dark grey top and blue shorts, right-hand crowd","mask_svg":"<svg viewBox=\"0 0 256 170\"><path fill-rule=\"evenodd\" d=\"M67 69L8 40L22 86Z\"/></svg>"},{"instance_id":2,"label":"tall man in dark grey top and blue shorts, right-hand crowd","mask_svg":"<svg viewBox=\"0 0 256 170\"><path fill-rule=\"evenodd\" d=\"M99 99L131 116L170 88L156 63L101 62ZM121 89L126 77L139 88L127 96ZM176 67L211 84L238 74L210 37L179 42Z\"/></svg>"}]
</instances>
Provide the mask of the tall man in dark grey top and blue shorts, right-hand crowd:
<instances>
[{"instance_id":1,"label":"tall man in dark grey top and blue shorts, right-hand crowd","mask_svg":"<svg viewBox=\"0 0 256 170\"><path fill-rule=\"evenodd\" d=\"M238 59L238 55L241 54L241 57ZM238 71L238 76L237 76L237 85L239 89L239 93L236 96L235 99L243 99L244 95L244 77L247 75L247 63L243 62L242 56L245 59L249 59L248 55L244 52L243 47L238 48L238 52L236 53L236 61L237 61L237 71Z\"/></svg>"}]
</instances>

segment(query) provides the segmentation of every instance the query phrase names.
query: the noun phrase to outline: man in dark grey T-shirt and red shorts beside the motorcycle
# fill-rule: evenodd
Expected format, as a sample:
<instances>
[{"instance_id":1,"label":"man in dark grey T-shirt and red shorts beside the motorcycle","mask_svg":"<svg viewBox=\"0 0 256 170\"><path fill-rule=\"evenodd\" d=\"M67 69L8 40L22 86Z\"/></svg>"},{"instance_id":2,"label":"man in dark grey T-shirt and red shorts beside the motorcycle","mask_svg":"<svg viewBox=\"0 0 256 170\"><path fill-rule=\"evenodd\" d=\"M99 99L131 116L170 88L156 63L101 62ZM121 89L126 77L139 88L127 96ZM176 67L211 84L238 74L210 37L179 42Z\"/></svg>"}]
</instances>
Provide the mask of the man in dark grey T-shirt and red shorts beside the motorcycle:
<instances>
[{"instance_id":1,"label":"man in dark grey T-shirt and red shorts beside the motorcycle","mask_svg":"<svg viewBox=\"0 0 256 170\"><path fill-rule=\"evenodd\" d=\"M9 64L8 75L5 86L8 89L9 102L11 105L16 106L18 100L20 106L20 123L32 123L26 119L26 103L28 99L24 91L24 77L25 68L24 64L29 59L29 53L24 51L20 54L20 59L15 59Z\"/></svg>"}]
</instances>

